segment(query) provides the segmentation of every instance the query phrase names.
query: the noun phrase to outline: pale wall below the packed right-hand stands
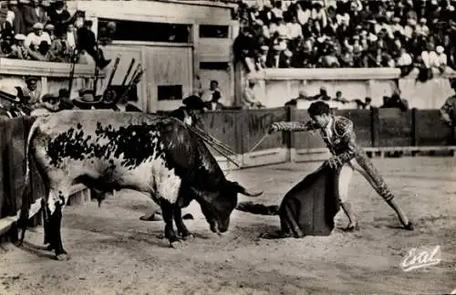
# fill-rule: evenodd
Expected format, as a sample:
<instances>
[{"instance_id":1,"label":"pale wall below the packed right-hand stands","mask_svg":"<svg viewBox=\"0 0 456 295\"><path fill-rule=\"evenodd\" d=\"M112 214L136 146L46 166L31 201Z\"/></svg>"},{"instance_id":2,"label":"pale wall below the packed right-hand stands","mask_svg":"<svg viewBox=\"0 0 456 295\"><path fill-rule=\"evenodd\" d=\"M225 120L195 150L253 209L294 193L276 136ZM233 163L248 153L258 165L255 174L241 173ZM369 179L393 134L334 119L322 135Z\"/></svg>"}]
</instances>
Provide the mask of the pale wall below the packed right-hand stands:
<instances>
[{"instance_id":1,"label":"pale wall below the packed right-hand stands","mask_svg":"<svg viewBox=\"0 0 456 295\"><path fill-rule=\"evenodd\" d=\"M370 97L372 105L377 107L383 104L383 96L391 96L399 89L410 109L427 110L439 109L453 94L449 78L456 77L456 72L440 74L436 71L434 77L425 82L417 80L416 71L401 77L399 68L265 68L241 76L241 88L245 87L247 79L257 81L254 91L268 108L284 106L286 101L297 98L300 90L314 96L325 87L331 97L336 97L336 91L340 90L347 100L364 101ZM300 100L298 108L306 109L308 104L308 101ZM355 101L331 101L330 104L338 110L357 107Z\"/></svg>"}]
</instances>

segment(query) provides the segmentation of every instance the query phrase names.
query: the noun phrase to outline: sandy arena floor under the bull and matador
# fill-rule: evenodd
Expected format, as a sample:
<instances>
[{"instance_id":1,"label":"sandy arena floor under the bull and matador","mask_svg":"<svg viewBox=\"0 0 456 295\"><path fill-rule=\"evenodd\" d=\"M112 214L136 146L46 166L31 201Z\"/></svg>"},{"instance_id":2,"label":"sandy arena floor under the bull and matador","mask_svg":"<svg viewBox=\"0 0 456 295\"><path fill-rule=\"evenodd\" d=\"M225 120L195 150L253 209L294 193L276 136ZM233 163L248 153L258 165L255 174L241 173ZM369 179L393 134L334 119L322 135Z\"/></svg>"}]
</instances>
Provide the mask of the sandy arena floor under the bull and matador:
<instances>
[{"instance_id":1,"label":"sandy arena floor under the bull and matador","mask_svg":"<svg viewBox=\"0 0 456 295\"><path fill-rule=\"evenodd\" d=\"M374 159L416 223L413 232L399 220L359 174L351 201L360 230L335 229L329 237L265 240L258 236L279 227L278 216L234 211L229 233L211 233L192 204L186 220L195 239L182 249L168 248L164 223L139 217L150 200L119 192L98 208L68 206L60 262L29 244L0 248L0 294L444 294L456 289L456 159ZM253 199L279 204L285 192L318 163L284 163L227 174L246 187L264 190ZM347 219L339 212L337 227ZM26 241L42 245L43 230L28 231ZM439 264L405 272L400 264L411 248L440 246Z\"/></svg>"}]
</instances>

